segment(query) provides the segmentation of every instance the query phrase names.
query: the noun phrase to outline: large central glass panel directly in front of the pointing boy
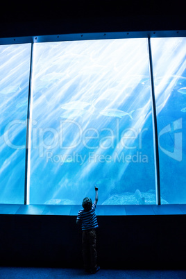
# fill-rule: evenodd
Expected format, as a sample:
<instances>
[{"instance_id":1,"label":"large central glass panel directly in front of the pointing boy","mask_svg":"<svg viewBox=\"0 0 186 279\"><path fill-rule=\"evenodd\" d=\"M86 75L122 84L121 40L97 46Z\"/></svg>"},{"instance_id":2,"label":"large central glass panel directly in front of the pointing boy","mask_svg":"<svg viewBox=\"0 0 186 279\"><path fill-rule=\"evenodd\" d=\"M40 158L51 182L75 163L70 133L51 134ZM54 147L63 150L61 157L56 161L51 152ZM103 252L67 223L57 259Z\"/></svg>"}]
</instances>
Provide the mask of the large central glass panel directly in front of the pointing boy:
<instances>
[{"instance_id":1,"label":"large central glass panel directly in front of the pointing boy","mask_svg":"<svg viewBox=\"0 0 186 279\"><path fill-rule=\"evenodd\" d=\"M146 39L37 43L31 203L155 203Z\"/></svg>"}]
</instances>

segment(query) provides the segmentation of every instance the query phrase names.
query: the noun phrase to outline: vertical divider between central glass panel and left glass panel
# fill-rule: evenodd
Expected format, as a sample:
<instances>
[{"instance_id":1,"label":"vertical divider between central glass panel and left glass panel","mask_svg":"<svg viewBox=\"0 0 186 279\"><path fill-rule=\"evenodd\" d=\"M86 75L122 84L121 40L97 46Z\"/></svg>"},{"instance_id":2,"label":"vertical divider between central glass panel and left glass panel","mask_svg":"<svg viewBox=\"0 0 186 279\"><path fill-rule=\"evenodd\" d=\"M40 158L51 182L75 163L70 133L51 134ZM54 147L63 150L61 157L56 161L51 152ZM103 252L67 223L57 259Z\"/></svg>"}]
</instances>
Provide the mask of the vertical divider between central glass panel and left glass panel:
<instances>
[{"instance_id":1,"label":"vertical divider between central glass panel and left glass panel","mask_svg":"<svg viewBox=\"0 0 186 279\"><path fill-rule=\"evenodd\" d=\"M31 61L28 82L28 109L26 119L26 156L25 156L25 180L24 180L24 204L30 201L30 159L31 159L31 94L32 94L32 74L33 74L33 42L31 43Z\"/></svg>"}]
</instances>

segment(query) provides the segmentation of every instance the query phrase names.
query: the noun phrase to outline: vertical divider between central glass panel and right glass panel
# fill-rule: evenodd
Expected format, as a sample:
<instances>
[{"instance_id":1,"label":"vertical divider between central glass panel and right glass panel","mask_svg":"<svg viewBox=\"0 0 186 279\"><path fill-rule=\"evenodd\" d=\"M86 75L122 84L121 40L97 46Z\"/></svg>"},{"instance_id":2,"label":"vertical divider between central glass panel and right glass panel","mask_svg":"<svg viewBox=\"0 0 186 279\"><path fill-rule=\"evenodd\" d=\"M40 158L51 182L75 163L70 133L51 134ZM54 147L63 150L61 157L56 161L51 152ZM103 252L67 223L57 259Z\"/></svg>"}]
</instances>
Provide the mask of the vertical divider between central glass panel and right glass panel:
<instances>
[{"instance_id":1,"label":"vertical divider between central glass panel and right glass panel","mask_svg":"<svg viewBox=\"0 0 186 279\"><path fill-rule=\"evenodd\" d=\"M155 192L156 192L156 203L161 204L160 197L160 160L158 151L158 125L157 115L155 107L155 90L153 80L153 58L151 51L151 37L148 37L148 50L149 50L149 66L150 66L150 78L151 78L151 100L152 100L152 115L153 115L153 139L154 139L154 154L155 154Z\"/></svg>"}]
</instances>

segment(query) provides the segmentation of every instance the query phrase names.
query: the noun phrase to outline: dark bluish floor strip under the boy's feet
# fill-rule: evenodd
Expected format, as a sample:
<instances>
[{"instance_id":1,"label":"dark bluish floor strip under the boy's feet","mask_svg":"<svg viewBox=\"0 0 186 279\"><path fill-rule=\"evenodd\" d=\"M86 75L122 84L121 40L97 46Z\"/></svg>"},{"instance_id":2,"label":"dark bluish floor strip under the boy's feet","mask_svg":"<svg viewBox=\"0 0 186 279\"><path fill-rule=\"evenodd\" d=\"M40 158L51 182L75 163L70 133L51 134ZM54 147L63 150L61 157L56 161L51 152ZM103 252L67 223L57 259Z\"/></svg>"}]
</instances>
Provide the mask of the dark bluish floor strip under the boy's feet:
<instances>
[{"instance_id":1,"label":"dark bluish floor strip under the boy's feet","mask_svg":"<svg viewBox=\"0 0 186 279\"><path fill-rule=\"evenodd\" d=\"M184 279L186 271L153 271L153 270L111 270L101 269L94 275L84 273L83 269L56 269L32 267L0 267L0 278L162 278Z\"/></svg>"}]
</instances>

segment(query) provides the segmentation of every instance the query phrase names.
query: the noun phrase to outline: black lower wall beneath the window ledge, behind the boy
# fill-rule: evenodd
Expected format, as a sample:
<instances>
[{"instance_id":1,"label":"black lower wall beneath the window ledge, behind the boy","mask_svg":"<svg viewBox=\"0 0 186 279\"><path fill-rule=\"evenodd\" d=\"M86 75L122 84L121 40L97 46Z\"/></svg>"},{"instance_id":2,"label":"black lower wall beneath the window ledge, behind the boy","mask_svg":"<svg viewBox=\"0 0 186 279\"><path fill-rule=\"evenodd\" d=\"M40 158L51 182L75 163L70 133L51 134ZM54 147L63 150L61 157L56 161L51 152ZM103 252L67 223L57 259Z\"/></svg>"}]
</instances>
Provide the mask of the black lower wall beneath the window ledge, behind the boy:
<instances>
[{"instance_id":1,"label":"black lower wall beneath the window ledge, behind the boy","mask_svg":"<svg viewBox=\"0 0 186 279\"><path fill-rule=\"evenodd\" d=\"M185 269L185 215L98 217L103 268ZM76 217L0 215L0 262L83 267Z\"/></svg>"}]
</instances>

